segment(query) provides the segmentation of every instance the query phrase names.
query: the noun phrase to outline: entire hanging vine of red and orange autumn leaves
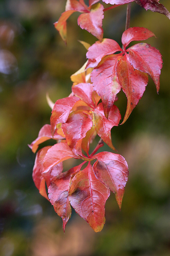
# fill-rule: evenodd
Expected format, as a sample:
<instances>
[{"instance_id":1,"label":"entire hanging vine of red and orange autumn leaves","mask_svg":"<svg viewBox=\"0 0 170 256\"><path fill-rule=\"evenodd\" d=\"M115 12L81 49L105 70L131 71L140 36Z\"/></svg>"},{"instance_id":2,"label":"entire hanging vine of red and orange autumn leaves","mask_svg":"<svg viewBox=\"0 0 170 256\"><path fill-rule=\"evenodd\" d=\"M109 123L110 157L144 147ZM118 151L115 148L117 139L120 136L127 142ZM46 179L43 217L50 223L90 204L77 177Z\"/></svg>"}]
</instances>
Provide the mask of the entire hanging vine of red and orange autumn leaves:
<instances>
[{"instance_id":1,"label":"entire hanging vine of red and orange autumn leaves","mask_svg":"<svg viewBox=\"0 0 170 256\"><path fill-rule=\"evenodd\" d=\"M133 41L146 40L154 34L147 28L127 28L122 34L122 47L112 39L103 39L104 12L121 4L136 2L146 10L160 12L170 18L170 13L158 0L67 0L55 28L66 43L66 21L73 12L80 12L78 25L90 32L98 41L86 47L88 61L71 76L72 92L53 104L51 124L45 124L29 147L35 153L39 144L53 139L56 144L41 148L33 167L33 180L40 194L54 206L63 219L63 229L71 216L71 206L86 220L95 232L105 223L105 204L110 190L121 208L128 166L123 156L113 152L100 152L106 143L115 150L111 128L118 126L121 115L114 102L122 89L127 97L123 121L143 96L148 75L157 92L160 86L162 57L160 52L145 42L129 47ZM90 154L90 144L98 135L98 142ZM63 172L63 161L74 158L82 163ZM79 161L80 162L80 161ZM93 162L93 164L91 164ZM46 190L47 186L47 190Z\"/></svg>"}]
</instances>

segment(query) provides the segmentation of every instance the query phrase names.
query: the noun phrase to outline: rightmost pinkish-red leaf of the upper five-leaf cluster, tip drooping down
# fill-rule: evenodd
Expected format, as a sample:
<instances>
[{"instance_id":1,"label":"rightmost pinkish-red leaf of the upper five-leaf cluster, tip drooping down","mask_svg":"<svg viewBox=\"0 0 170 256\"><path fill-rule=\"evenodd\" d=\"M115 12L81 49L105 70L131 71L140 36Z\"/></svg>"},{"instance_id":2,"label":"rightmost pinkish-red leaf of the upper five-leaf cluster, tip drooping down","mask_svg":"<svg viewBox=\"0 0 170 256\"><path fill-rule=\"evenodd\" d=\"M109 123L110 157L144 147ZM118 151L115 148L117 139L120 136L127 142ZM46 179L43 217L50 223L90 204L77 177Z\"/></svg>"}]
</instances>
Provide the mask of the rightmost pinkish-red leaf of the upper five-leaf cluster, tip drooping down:
<instances>
[{"instance_id":1,"label":"rightmost pinkish-red leaf of the upper five-leaf cluster, tip drooping down","mask_svg":"<svg viewBox=\"0 0 170 256\"><path fill-rule=\"evenodd\" d=\"M162 68L162 56L160 52L149 44L135 44L129 49L129 60L137 70L150 75L159 91L160 70Z\"/></svg>"}]
</instances>

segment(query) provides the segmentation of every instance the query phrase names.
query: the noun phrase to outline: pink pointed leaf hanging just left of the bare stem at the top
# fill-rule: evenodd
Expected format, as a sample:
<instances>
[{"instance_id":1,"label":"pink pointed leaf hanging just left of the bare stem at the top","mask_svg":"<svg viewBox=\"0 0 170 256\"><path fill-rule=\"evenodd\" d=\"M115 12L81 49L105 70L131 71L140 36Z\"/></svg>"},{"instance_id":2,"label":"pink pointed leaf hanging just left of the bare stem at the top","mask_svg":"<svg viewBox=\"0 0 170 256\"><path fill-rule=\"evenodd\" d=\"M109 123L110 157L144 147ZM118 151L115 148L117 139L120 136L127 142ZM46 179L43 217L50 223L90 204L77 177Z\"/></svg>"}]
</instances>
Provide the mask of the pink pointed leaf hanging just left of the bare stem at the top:
<instances>
[{"instance_id":1,"label":"pink pointed leaf hanging just left of the bare stem at the top","mask_svg":"<svg viewBox=\"0 0 170 256\"><path fill-rule=\"evenodd\" d=\"M87 30L100 41L103 38L102 19L104 18L104 7L102 4L92 6L90 12L83 13L78 17L80 28Z\"/></svg>"}]
</instances>

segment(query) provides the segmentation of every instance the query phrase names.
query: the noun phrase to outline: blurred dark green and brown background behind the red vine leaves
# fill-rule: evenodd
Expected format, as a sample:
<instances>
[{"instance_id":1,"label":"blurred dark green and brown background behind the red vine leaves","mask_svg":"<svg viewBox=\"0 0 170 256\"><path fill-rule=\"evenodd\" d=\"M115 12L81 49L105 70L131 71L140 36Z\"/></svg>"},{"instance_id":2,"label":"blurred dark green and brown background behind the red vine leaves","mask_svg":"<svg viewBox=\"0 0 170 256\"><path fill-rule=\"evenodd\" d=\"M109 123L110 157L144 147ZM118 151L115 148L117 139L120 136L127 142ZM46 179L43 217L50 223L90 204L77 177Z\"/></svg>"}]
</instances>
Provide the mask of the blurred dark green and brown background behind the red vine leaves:
<instances>
[{"instance_id":1,"label":"blurred dark green and brown background behind the red vine leaves","mask_svg":"<svg viewBox=\"0 0 170 256\"><path fill-rule=\"evenodd\" d=\"M161 1L170 10L170 1ZM35 155L28 148L49 124L53 102L71 92L70 75L86 61L94 36L68 20L68 46L53 23L63 0L0 1L0 256L170 255L170 20L132 4L131 26L156 38L146 42L163 58L160 92L149 84L125 124L112 129L113 145L129 165L121 212L111 194L106 224L95 233L74 210L65 234L62 220L32 180ZM106 6L106 5L105 5ZM104 37L121 45L126 6L107 11ZM121 92L117 106L125 114ZM97 142L98 140L96 140ZM51 142L50 142L51 143ZM105 145L103 150L109 150ZM68 162L69 168L69 162Z\"/></svg>"}]
</instances>

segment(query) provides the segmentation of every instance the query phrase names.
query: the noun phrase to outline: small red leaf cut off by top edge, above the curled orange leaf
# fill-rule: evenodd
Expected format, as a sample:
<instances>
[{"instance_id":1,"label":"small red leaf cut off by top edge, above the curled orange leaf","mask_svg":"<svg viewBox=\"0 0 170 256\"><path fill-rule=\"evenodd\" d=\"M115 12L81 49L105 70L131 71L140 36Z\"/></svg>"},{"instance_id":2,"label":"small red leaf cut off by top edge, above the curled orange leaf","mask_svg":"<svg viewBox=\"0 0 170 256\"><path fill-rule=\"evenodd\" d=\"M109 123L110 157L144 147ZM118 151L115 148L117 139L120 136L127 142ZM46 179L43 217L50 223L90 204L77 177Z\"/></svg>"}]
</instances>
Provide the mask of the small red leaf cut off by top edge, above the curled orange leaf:
<instances>
[{"instance_id":1,"label":"small red leaf cut off by top edge, above the curled orange leaf","mask_svg":"<svg viewBox=\"0 0 170 256\"><path fill-rule=\"evenodd\" d=\"M67 0L65 10L76 10L78 12L87 12L88 6L84 3L84 0Z\"/></svg>"}]
</instances>

